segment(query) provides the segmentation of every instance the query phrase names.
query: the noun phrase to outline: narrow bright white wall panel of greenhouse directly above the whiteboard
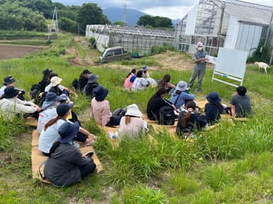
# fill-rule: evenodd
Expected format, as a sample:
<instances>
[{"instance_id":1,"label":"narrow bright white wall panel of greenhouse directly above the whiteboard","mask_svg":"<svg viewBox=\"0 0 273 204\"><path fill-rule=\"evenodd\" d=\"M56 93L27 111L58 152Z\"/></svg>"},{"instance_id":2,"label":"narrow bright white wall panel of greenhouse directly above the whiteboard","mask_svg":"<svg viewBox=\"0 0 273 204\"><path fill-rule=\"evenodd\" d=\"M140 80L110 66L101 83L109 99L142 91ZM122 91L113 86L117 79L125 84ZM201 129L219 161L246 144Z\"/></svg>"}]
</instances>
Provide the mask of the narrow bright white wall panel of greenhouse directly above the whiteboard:
<instances>
[{"instance_id":1,"label":"narrow bright white wall panel of greenhouse directly above the whiteboard","mask_svg":"<svg viewBox=\"0 0 273 204\"><path fill-rule=\"evenodd\" d=\"M230 16L230 21L228 23L228 32L225 36L225 48L235 49L237 42L237 33L239 32L240 23L237 22L236 18Z\"/></svg>"}]
</instances>

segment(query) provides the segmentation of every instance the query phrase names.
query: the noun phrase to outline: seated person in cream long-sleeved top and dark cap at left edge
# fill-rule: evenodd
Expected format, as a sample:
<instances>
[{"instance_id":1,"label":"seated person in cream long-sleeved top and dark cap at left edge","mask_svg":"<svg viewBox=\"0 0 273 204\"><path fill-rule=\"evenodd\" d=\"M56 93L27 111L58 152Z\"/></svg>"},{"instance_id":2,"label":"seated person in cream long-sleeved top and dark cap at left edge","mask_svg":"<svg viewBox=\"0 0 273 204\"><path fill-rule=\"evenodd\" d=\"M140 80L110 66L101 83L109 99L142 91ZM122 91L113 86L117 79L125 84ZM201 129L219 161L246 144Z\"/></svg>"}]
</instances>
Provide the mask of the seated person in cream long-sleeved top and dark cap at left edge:
<instances>
[{"instance_id":1,"label":"seated person in cream long-sleeved top and dark cap at left edge","mask_svg":"<svg viewBox=\"0 0 273 204\"><path fill-rule=\"evenodd\" d=\"M14 86L7 86L0 100L0 115L6 119L11 119L22 113L24 118L27 116L37 116L41 108L31 101L21 101L18 98L19 90Z\"/></svg>"}]
</instances>

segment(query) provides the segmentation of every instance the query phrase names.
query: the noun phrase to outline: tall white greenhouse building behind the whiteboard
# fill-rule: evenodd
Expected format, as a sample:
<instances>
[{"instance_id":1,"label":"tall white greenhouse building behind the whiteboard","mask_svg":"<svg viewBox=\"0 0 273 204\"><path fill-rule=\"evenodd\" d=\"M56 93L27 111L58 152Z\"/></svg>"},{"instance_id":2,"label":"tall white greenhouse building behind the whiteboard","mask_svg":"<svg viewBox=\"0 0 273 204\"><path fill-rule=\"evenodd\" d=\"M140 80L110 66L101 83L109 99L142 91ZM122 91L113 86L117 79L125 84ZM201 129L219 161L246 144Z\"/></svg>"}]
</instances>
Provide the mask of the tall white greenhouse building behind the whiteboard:
<instances>
[{"instance_id":1,"label":"tall white greenhouse building behind the whiteboard","mask_svg":"<svg viewBox=\"0 0 273 204\"><path fill-rule=\"evenodd\" d=\"M176 25L174 45L194 52L203 42L210 55L218 47L246 50L252 55L257 47L270 45L272 51L273 7L236 0L200 0ZM269 53L272 58L272 52ZM272 59L271 59L272 60Z\"/></svg>"}]
</instances>

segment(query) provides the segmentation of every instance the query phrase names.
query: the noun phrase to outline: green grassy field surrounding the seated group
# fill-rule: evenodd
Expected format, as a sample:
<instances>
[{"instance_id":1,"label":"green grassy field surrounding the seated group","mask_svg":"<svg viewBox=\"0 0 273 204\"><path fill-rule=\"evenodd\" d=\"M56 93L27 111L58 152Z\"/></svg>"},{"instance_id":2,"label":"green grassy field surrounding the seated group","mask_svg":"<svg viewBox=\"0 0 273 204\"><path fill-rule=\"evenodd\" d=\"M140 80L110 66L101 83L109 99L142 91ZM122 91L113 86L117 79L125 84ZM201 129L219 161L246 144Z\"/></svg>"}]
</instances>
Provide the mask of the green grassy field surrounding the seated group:
<instances>
[{"instance_id":1,"label":"green grassy field surrounding the seated group","mask_svg":"<svg viewBox=\"0 0 273 204\"><path fill-rule=\"evenodd\" d=\"M63 85L70 87L83 69L90 69L100 76L99 83L109 89L107 99L112 111L137 103L145 113L147 101L156 89L125 91L124 78L130 69L139 69L142 64L159 67L149 70L151 76L161 79L164 74L171 74L173 84L191 77L191 70L164 69L156 56L94 67L71 66L68 59L76 55L73 46L85 56L72 36L61 35L45 52L2 60L0 78L12 75L16 86L29 91L42 78L43 69L50 68L63 78ZM188 55L171 53L191 63ZM90 50L89 55L99 56L95 50ZM33 181L33 129L23 125L22 120L0 120L0 203L273 203L273 92L269 89L273 71L268 72L258 73L257 67L247 66L244 85L255 112L252 119L234 126L223 122L205 135L197 132L193 143L174 141L167 132L151 130L157 143L142 137L124 140L112 150L105 132L89 118L90 101L81 95L73 98L84 127L99 137L95 150L104 171L68 188ZM229 103L235 88L212 83L211 77L210 68L196 98L203 100L210 91L218 91L223 102Z\"/></svg>"}]
</instances>

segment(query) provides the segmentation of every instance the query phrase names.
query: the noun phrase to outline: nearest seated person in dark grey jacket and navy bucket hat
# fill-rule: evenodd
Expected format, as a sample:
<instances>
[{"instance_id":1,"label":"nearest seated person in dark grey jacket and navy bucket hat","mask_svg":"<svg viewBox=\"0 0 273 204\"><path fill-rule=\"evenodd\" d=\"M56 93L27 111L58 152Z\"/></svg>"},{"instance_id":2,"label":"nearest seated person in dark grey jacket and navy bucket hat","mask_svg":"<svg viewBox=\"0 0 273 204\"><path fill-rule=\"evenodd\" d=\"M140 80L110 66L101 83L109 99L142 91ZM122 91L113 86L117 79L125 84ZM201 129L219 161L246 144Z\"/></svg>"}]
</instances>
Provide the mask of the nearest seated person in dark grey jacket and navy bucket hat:
<instances>
[{"instance_id":1,"label":"nearest seated person in dark grey jacket and navy bucket hat","mask_svg":"<svg viewBox=\"0 0 273 204\"><path fill-rule=\"evenodd\" d=\"M79 123L65 122L58 128L57 142L50 149L49 158L45 163L44 174L55 186L71 186L80 182L84 176L96 169L92 158L73 146L73 138L79 131Z\"/></svg>"}]
</instances>

